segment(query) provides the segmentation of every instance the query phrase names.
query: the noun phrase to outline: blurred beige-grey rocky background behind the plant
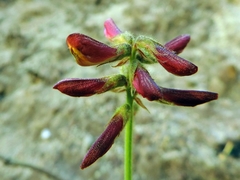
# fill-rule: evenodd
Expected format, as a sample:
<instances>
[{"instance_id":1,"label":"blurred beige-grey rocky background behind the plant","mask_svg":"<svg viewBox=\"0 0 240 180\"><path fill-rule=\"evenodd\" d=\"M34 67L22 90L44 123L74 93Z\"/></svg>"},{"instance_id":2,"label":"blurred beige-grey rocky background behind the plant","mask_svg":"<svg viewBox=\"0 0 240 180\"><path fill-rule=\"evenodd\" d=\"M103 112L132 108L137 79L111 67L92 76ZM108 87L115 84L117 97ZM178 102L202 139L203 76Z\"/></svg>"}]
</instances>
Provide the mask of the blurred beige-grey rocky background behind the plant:
<instances>
[{"instance_id":1,"label":"blurred beige-grey rocky background behind the plant","mask_svg":"<svg viewBox=\"0 0 240 180\"><path fill-rule=\"evenodd\" d=\"M134 120L133 179L235 180L240 177L240 2L238 0L0 0L0 177L2 180L123 179L123 137L85 170L79 165L124 94L72 98L53 90L63 78L118 72L80 67L65 39L80 32L107 43L103 23L164 44L180 34L181 53L199 68L176 77L147 69L163 87L209 90L217 101L194 108L142 99ZM55 175L11 165L24 162Z\"/></svg>"}]
</instances>

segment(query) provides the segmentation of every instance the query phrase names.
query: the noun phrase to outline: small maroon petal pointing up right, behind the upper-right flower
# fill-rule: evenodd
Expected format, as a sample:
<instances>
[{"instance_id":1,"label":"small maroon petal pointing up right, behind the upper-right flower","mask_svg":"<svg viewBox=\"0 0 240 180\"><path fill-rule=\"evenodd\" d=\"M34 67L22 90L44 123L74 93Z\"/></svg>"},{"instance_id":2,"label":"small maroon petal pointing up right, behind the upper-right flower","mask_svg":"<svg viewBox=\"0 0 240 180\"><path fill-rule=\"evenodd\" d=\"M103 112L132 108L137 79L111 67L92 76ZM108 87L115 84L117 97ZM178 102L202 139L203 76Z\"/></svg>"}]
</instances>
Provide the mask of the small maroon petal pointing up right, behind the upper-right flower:
<instances>
[{"instance_id":1,"label":"small maroon petal pointing up right, behind the upper-right flower","mask_svg":"<svg viewBox=\"0 0 240 180\"><path fill-rule=\"evenodd\" d=\"M175 54L179 54L187 46L189 41L190 36L188 34L183 34L167 42L164 47L174 51Z\"/></svg>"}]
</instances>

